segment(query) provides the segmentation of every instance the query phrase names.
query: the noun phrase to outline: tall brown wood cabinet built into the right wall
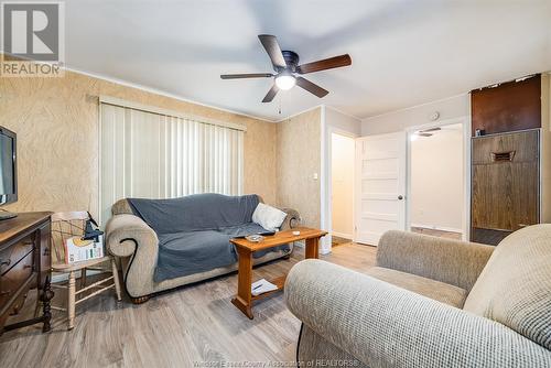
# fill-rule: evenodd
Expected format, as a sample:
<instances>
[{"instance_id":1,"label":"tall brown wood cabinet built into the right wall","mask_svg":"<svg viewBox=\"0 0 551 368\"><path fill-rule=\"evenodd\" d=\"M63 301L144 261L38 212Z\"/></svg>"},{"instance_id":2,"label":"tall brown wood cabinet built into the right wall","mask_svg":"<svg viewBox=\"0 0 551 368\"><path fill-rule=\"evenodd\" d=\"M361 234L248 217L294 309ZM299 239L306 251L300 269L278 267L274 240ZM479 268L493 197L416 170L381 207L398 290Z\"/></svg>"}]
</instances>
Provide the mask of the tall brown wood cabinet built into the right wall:
<instances>
[{"instance_id":1,"label":"tall brown wood cabinet built into the right wall","mask_svg":"<svg viewBox=\"0 0 551 368\"><path fill-rule=\"evenodd\" d=\"M497 245L551 223L551 82L541 74L471 94L471 240Z\"/></svg>"}]
</instances>

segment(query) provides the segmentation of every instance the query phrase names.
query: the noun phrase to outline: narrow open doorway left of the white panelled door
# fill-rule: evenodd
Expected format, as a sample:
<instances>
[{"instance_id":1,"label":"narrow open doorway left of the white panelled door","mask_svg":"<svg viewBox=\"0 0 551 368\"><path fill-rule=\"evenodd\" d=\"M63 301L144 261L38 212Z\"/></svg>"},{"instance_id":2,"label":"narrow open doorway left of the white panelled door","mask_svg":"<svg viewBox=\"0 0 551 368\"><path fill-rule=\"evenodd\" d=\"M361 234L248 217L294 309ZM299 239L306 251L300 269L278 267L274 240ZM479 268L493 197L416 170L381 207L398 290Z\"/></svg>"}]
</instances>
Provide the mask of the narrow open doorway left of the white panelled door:
<instances>
[{"instance_id":1,"label":"narrow open doorway left of the white panelled door","mask_svg":"<svg viewBox=\"0 0 551 368\"><path fill-rule=\"evenodd\" d=\"M348 243L354 234L354 138L331 134L332 246Z\"/></svg>"}]
</instances>

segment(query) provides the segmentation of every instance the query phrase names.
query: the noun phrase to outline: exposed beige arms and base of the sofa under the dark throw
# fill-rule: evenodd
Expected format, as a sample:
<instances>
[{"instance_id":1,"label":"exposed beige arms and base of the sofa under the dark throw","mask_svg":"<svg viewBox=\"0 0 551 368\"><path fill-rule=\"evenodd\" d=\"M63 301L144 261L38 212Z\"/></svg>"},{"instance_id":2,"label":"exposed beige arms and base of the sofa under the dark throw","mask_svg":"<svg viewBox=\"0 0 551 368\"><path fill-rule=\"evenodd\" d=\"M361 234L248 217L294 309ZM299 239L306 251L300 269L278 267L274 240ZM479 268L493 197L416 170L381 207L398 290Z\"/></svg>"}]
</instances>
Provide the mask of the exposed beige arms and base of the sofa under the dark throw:
<instances>
[{"instance_id":1,"label":"exposed beige arms and base of the sofa under the dark throw","mask_svg":"<svg viewBox=\"0 0 551 368\"><path fill-rule=\"evenodd\" d=\"M295 227L300 223L299 213L294 209L282 208L288 215L281 229ZM194 273L181 278L155 282L153 274L156 266L159 239L140 217L132 215L128 201L118 201L111 207L112 217L106 224L107 250L121 258L125 288L132 302L143 303L151 294L197 281L215 278L237 270L237 263L216 268L210 271ZM255 264L264 263L278 258L289 257L293 250L272 251L263 257L256 258Z\"/></svg>"}]
</instances>

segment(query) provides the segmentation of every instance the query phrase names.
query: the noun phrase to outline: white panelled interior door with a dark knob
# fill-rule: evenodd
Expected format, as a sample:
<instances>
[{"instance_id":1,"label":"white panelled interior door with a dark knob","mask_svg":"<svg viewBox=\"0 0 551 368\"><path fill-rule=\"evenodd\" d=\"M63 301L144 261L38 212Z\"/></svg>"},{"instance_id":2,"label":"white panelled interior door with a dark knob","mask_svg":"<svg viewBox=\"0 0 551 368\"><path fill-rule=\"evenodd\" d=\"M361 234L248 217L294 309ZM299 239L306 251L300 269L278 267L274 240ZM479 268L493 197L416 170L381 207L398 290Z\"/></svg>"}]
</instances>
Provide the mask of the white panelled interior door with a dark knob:
<instances>
[{"instance_id":1,"label":"white panelled interior door with a dark knob","mask_svg":"<svg viewBox=\"0 0 551 368\"><path fill-rule=\"evenodd\" d=\"M406 229L406 148L404 131L356 140L356 242Z\"/></svg>"}]
</instances>

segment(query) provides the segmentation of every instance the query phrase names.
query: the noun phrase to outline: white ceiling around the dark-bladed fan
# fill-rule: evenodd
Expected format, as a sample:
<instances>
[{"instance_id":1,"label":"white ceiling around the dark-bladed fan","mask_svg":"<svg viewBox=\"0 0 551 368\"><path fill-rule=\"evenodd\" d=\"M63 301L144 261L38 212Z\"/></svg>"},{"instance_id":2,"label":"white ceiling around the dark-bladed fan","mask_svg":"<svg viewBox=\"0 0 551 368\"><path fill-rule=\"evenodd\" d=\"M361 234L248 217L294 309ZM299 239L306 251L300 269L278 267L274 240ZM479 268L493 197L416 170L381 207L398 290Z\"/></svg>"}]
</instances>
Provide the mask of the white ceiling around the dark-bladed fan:
<instances>
[{"instance_id":1,"label":"white ceiling around the dark-bladed fan","mask_svg":"<svg viewBox=\"0 0 551 368\"><path fill-rule=\"evenodd\" d=\"M269 120L320 104L358 118L551 69L551 0L71 0L69 68ZM349 53L271 104L272 72L257 35L278 36L304 63ZM281 115L279 107L281 106Z\"/></svg>"}]
</instances>

